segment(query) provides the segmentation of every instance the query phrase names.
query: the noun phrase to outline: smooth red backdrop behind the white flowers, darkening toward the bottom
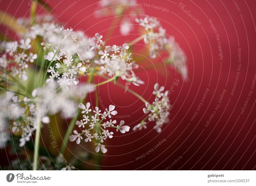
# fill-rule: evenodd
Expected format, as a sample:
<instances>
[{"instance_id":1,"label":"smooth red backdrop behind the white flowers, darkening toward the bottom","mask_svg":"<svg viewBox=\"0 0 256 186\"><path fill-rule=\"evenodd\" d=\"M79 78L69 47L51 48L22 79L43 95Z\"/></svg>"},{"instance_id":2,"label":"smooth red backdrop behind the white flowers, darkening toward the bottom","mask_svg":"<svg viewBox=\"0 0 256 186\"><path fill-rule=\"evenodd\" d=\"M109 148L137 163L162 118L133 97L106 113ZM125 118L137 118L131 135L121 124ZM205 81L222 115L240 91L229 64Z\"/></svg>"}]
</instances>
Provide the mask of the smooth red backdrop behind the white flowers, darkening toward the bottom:
<instances>
[{"instance_id":1,"label":"smooth red backdrop behind the white flowers, darkening toward the bottom","mask_svg":"<svg viewBox=\"0 0 256 186\"><path fill-rule=\"evenodd\" d=\"M27 0L0 1L0 10L6 11L15 18L29 16L29 2ZM53 9L51 12L55 17L60 16L65 27L72 27L75 30L83 30L89 36L96 32L106 35L110 29L113 16L97 17L95 10L98 1L83 0L60 0L45 1ZM63 11L76 2L68 11ZM174 79L179 80L178 86L174 87L171 94L170 123L164 125L163 131L158 134L153 130L153 123L148 123L147 129L141 131L130 131L125 135L114 136L107 140L108 153L99 155L101 158L100 169L103 170L252 170L256 169L256 86L251 89L253 77L256 74L256 28L255 21L256 2L254 0L183 0L185 10L196 17L201 24L197 24L187 13L178 6L180 2L169 0L138 0L142 3L140 8L149 16L160 20L166 33L173 35L180 47L184 50L188 64L188 80L183 81L182 77L175 70L167 69L144 69L143 63L162 64L160 57L149 60L148 53L143 56L137 75L146 83L143 86L129 86L150 102L153 101L152 91L156 82L171 89ZM144 6L144 3L148 6ZM152 5L166 8L168 12L156 10ZM126 6L126 5L125 5ZM239 10L237 9L239 7ZM39 8L40 9L40 8ZM43 9L38 12L45 12ZM214 27L219 34L223 59L220 60L218 41L213 28L209 23L212 20ZM0 22L1 25L1 22ZM119 25L117 25L119 26ZM6 27L1 27L4 33ZM119 28L113 29L112 38L108 44L121 45L138 37L138 25L130 35L121 35ZM136 34L136 35L135 35ZM16 33L9 35L10 39L18 39ZM135 47L140 53L140 45ZM241 68L237 79L234 94L231 95L238 68L238 49L241 48ZM136 57L136 54L134 54ZM137 54L137 57L139 54ZM103 79L99 79L103 81ZM121 82L121 81L120 81ZM124 82L122 82L125 84ZM204 92L209 89L201 109L197 111ZM223 89L226 90L220 107L212 118L209 126L205 127L207 120L213 113ZM249 91L253 90L246 109L241 114ZM99 96L102 105L116 105L118 116L125 117L125 123L133 128L143 117L143 103L129 92L114 86L113 84L103 85L99 88ZM94 94L88 95L87 100L94 103ZM191 121L195 112L196 117ZM117 118L117 121L122 119ZM67 122L58 124L58 134L64 135ZM59 136L59 143L61 137ZM164 143L154 149L161 140ZM47 139L43 139L47 144ZM41 143L42 145L42 143ZM67 156L76 156L73 153L74 144L69 144ZM50 147L49 147L50 148ZM79 148L76 146L76 148ZM90 148L80 147L81 153L94 151ZM150 149L153 152L146 154ZM48 149L57 153L55 149ZM55 151L55 152L54 152ZM10 159L17 157L8 155L8 149L1 153L1 165L6 165ZM137 157L145 157L138 159ZM178 161L176 159L180 158ZM138 160L136 160L136 158ZM175 162L176 161L176 162ZM175 164L173 164L175 162ZM89 161L81 161L81 164L91 166Z\"/></svg>"}]
</instances>

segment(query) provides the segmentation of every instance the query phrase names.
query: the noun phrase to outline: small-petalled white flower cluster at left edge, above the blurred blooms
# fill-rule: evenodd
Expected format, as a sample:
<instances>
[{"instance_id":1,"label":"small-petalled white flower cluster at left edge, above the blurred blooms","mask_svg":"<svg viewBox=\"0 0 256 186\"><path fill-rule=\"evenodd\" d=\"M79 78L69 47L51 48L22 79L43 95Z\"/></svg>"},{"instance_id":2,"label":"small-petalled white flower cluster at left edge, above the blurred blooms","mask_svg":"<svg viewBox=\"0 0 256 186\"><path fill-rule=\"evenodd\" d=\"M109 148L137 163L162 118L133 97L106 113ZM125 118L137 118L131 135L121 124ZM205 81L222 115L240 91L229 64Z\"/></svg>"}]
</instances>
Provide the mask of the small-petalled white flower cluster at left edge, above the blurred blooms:
<instances>
[{"instance_id":1,"label":"small-petalled white flower cluster at left edge, above the blurred blooms","mask_svg":"<svg viewBox=\"0 0 256 186\"><path fill-rule=\"evenodd\" d=\"M29 52L30 43L30 38L21 39L19 43L17 41L2 43L4 45L4 54L0 57L0 69L8 69L10 65L11 75L26 81L28 79L26 73L28 65L37 58L37 54ZM4 73L2 76L4 77L6 74Z\"/></svg>"}]
</instances>

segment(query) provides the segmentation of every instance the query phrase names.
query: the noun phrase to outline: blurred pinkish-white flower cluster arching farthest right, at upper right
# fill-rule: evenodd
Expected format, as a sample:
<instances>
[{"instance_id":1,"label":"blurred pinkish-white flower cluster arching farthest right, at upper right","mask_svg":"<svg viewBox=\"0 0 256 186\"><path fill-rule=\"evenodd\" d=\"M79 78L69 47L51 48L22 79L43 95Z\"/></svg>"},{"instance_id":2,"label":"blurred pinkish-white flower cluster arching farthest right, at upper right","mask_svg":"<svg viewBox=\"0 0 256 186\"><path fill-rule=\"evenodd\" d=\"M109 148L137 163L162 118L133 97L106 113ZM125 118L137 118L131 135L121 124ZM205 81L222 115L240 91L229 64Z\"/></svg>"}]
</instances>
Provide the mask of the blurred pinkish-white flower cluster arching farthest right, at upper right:
<instances>
[{"instance_id":1,"label":"blurred pinkish-white flower cluster arching farthest right, at upper right","mask_svg":"<svg viewBox=\"0 0 256 186\"><path fill-rule=\"evenodd\" d=\"M147 31L147 34L144 35L144 42L149 44L150 57L156 58L159 50L165 50L168 53L167 63L175 66L184 79L187 79L186 57L174 38L169 34L167 37L166 30L160 22L156 18L148 16L144 19L136 18L135 21L145 27Z\"/></svg>"}]
</instances>

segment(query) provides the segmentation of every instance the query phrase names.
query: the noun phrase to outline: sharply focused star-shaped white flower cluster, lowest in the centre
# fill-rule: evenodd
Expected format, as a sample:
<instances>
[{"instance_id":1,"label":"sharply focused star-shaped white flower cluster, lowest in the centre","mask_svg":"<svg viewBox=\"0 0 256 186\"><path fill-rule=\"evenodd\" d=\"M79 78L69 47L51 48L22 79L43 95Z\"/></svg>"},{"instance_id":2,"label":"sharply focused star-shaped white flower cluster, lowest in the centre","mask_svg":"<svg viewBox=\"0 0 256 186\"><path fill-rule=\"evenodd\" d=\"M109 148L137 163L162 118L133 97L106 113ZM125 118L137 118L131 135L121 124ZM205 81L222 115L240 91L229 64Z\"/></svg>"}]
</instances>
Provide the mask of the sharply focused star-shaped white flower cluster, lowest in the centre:
<instances>
[{"instance_id":1,"label":"sharply focused star-shaped white flower cluster, lowest in the centre","mask_svg":"<svg viewBox=\"0 0 256 186\"><path fill-rule=\"evenodd\" d=\"M83 119L80 121L76 121L76 125L82 129L81 133L78 133L76 130L73 131L74 135L69 136L69 140L71 142L76 141L77 144L81 142L83 139L82 136L85 136L85 142L93 142L95 143L96 152L100 150L103 153L107 152L105 145L103 143L107 138L112 138L114 132L109 131L107 128L116 128L116 132L118 130L121 133L128 132L130 127L123 126L124 120L120 122L119 125L115 126L116 120L105 121L107 118L111 118L112 115L116 115L117 111L115 111L114 105L109 105L108 109L106 108L103 113L99 110L99 107L95 107L95 110L90 109L91 103L86 103L86 105L80 103L78 107L82 109ZM94 115L91 115L93 113ZM85 115L86 114L86 115Z\"/></svg>"}]
</instances>

